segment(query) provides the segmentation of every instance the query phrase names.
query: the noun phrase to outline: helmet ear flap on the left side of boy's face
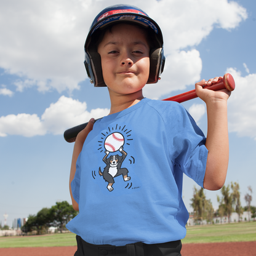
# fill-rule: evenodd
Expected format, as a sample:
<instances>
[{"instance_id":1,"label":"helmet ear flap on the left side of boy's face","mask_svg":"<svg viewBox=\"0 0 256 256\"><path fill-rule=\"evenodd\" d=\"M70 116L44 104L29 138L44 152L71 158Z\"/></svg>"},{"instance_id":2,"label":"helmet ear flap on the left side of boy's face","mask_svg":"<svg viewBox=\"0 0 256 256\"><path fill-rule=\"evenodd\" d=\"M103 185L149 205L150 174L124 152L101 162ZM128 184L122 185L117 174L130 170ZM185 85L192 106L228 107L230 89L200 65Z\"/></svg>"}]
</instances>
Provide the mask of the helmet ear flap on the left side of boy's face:
<instances>
[{"instance_id":1,"label":"helmet ear flap on the left side of boy's face","mask_svg":"<svg viewBox=\"0 0 256 256\"><path fill-rule=\"evenodd\" d=\"M87 76L90 78L90 82L94 84L94 87L105 87L106 84L102 74L102 61L98 52L86 52L86 58L84 60L84 66L86 67Z\"/></svg>"}]
</instances>

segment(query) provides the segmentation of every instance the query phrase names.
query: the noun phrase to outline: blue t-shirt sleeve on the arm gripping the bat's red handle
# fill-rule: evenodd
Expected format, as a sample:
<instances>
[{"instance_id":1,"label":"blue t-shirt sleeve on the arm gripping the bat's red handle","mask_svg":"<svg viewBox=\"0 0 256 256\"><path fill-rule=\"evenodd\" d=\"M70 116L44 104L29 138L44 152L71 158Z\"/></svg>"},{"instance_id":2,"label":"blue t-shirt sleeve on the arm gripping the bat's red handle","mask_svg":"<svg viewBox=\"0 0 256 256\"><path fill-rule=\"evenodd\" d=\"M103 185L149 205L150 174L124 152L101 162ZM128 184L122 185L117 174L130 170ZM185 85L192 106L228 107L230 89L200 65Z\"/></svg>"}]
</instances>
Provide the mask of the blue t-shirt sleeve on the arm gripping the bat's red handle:
<instances>
[{"instance_id":1,"label":"blue t-shirt sleeve on the arm gripping the bat's red handle","mask_svg":"<svg viewBox=\"0 0 256 256\"><path fill-rule=\"evenodd\" d=\"M175 116L170 122L169 152L175 171L182 171L194 182L203 187L208 150L205 146L206 137L194 119L183 108L176 105Z\"/></svg>"}]
</instances>

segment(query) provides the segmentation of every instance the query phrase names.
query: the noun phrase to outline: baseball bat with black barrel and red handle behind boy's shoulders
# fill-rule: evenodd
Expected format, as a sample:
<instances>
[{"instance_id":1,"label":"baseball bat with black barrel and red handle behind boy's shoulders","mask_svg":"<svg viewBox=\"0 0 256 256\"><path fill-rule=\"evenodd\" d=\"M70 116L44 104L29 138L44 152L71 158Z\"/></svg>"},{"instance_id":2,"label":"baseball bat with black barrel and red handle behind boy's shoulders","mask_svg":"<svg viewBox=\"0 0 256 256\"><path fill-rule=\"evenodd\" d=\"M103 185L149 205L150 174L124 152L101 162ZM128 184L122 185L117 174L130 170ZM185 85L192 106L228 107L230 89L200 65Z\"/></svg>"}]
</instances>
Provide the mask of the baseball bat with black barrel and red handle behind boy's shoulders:
<instances>
[{"instance_id":1,"label":"baseball bat with black barrel and red handle behind boy's shoulders","mask_svg":"<svg viewBox=\"0 0 256 256\"><path fill-rule=\"evenodd\" d=\"M235 83L233 76L231 74L226 73L223 76L223 79L219 80L215 84L212 84L211 86L203 86L204 89L209 89L209 90L222 90L226 89L232 92L235 88ZM172 102L186 102L187 100L192 100L193 98L198 97L196 95L196 90L190 90L188 92L184 92L183 94L178 94L170 98L165 98L164 100L169 100ZM98 118L101 119L101 118ZM95 121L97 121L96 119ZM64 138L66 142L75 142L76 141L76 136L78 135L79 132L81 132L82 129L84 129L87 126L88 122L84 124L80 124L79 126L72 127L68 130L65 130L64 132Z\"/></svg>"}]
</instances>

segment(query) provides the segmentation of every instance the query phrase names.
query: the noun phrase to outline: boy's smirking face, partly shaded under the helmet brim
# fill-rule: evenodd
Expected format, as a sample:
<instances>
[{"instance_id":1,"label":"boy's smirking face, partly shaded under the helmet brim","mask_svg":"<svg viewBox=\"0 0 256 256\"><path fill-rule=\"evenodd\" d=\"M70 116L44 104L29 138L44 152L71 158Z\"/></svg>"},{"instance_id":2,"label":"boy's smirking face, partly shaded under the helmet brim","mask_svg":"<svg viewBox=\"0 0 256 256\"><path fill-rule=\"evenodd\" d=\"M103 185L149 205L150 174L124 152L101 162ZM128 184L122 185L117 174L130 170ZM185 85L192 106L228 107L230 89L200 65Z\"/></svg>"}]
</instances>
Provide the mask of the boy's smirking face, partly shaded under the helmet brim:
<instances>
[{"instance_id":1,"label":"boy's smirking face, partly shaded under the helmet brim","mask_svg":"<svg viewBox=\"0 0 256 256\"><path fill-rule=\"evenodd\" d=\"M98 53L110 94L127 95L142 90L150 73L150 47L144 30L119 23L106 31Z\"/></svg>"}]
</instances>

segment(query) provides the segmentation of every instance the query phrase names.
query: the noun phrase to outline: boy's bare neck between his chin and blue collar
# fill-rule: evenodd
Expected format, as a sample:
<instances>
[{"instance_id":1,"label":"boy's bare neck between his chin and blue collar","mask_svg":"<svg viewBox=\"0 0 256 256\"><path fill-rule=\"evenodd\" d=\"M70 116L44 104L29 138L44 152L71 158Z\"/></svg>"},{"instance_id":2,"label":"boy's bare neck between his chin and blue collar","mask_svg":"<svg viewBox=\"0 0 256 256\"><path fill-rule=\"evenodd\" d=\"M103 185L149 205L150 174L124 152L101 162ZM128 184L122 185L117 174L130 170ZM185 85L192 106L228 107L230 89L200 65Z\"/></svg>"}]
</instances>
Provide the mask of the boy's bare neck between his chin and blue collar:
<instances>
[{"instance_id":1,"label":"boy's bare neck between his chin and blue collar","mask_svg":"<svg viewBox=\"0 0 256 256\"><path fill-rule=\"evenodd\" d=\"M142 90L139 92L135 92L134 94L127 94L127 95L111 95L110 94L110 101L111 101L111 108L110 114L118 113L122 110L126 110L126 108L130 108L140 102L144 97L142 95Z\"/></svg>"}]
</instances>

